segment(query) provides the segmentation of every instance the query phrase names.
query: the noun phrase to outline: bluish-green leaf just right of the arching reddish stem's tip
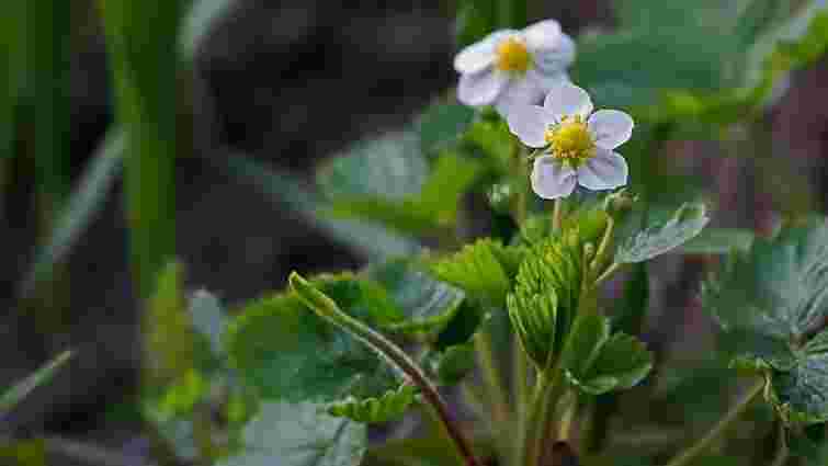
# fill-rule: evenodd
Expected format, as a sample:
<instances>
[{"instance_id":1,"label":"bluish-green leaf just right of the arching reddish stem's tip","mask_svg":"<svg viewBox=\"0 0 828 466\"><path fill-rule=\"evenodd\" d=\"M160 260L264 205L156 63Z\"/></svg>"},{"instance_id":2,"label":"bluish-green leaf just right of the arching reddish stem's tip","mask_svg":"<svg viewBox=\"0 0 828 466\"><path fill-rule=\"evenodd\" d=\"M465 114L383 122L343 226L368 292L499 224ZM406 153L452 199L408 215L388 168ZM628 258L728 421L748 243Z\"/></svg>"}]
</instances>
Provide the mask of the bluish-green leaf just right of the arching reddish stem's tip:
<instances>
[{"instance_id":1,"label":"bluish-green leaf just right of the arching reddish stem's tip","mask_svg":"<svg viewBox=\"0 0 828 466\"><path fill-rule=\"evenodd\" d=\"M432 279L407 259L371 266L366 276L382 285L405 314L405 320L388 327L397 331L432 333L441 330L457 312L465 296L461 289Z\"/></svg>"}]
</instances>

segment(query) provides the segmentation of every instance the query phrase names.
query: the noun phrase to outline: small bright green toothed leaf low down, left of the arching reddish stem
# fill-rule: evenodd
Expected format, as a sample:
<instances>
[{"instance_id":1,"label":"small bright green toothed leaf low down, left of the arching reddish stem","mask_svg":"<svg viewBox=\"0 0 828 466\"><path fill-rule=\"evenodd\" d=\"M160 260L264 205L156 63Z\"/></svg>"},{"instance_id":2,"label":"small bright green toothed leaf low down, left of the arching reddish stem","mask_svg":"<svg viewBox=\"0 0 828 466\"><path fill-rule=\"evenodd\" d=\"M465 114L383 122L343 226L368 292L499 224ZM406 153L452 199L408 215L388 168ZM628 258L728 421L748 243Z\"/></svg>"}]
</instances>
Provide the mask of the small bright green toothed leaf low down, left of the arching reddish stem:
<instances>
[{"instance_id":1,"label":"small bright green toothed leaf low down, left of the arching reddish stem","mask_svg":"<svg viewBox=\"0 0 828 466\"><path fill-rule=\"evenodd\" d=\"M339 418L349 418L363 423L382 423L395 421L408 411L417 400L418 389L413 385L402 384L396 390L388 390L379 397L348 397L328 407L328 413Z\"/></svg>"}]
</instances>

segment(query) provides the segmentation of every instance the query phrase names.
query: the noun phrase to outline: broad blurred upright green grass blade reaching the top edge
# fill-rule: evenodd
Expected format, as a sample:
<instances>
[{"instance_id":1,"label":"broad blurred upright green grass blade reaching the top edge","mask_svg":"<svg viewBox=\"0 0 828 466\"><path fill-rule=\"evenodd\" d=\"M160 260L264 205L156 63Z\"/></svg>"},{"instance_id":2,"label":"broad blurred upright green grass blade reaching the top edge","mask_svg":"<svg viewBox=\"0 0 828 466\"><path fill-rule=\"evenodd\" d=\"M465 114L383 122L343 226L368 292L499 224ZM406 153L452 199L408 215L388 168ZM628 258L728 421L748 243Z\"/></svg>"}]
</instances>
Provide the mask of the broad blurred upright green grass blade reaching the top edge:
<instances>
[{"instance_id":1,"label":"broad blurred upright green grass blade reaching the top edge","mask_svg":"<svg viewBox=\"0 0 828 466\"><path fill-rule=\"evenodd\" d=\"M175 252L178 32L182 0L101 0L115 81L116 121L125 130L129 255L138 296Z\"/></svg>"}]
</instances>

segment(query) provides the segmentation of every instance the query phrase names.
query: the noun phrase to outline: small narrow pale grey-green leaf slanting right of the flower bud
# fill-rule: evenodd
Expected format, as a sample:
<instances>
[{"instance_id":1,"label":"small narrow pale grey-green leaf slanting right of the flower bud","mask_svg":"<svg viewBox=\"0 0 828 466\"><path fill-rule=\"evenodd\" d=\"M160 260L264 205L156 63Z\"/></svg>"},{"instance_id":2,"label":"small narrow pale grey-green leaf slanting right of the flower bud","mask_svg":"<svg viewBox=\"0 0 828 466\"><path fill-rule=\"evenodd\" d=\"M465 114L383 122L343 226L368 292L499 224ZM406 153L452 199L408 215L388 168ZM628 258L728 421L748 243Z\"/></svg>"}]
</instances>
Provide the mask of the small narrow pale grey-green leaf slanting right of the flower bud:
<instances>
[{"instance_id":1,"label":"small narrow pale grey-green leaf slanting right of the flower bud","mask_svg":"<svg viewBox=\"0 0 828 466\"><path fill-rule=\"evenodd\" d=\"M635 263L661 255L699 235L708 221L703 204L684 204L666 223L650 226L622 242L615 261Z\"/></svg>"}]
</instances>

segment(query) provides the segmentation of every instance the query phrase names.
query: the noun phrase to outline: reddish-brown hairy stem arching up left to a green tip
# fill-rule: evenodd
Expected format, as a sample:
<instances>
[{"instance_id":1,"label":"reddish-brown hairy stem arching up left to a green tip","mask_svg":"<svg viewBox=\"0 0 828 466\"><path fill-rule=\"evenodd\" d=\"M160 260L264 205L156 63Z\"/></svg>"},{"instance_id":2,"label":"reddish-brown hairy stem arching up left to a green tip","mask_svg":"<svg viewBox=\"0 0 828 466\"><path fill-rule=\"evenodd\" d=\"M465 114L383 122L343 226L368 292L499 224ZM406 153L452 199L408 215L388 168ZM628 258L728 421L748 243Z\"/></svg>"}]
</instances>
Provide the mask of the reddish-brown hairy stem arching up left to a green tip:
<instances>
[{"instance_id":1,"label":"reddish-brown hairy stem arching up left to a green tip","mask_svg":"<svg viewBox=\"0 0 828 466\"><path fill-rule=\"evenodd\" d=\"M298 295L299 299L305 303L319 317L342 328L353 334L368 348L379 353L390 364L402 371L422 393L426 401L431 405L438 414L441 423L445 428L449 436L457 453L463 457L466 466L479 466L474 456L469 442L466 440L463 431L453 419L449 406L445 404L436 387L428 379L422 368L417 365L399 346L382 334L375 332L366 325L344 314L337 304L326 296L322 292L315 288L310 283L303 279L296 272L291 273L288 279L291 288Z\"/></svg>"}]
</instances>

